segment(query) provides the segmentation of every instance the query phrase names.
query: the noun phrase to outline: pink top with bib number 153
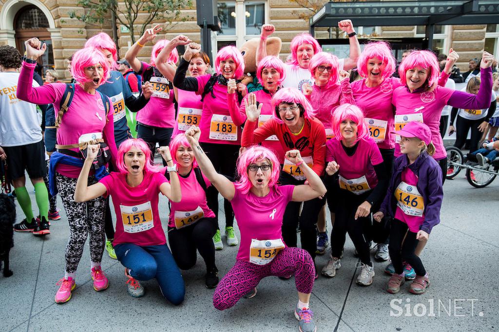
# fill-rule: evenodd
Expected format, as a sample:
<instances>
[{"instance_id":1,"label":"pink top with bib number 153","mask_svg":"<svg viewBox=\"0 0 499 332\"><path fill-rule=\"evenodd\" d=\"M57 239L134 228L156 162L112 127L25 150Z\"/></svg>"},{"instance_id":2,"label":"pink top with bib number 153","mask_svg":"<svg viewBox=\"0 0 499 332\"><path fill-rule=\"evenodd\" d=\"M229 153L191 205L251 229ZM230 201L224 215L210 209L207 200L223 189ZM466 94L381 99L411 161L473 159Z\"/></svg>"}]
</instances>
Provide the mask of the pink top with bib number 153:
<instances>
[{"instance_id":1,"label":"pink top with bib number 153","mask_svg":"<svg viewBox=\"0 0 499 332\"><path fill-rule=\"evenodd\" d=\"M192 125L199 127L203 113L201 95L197 95L194 91L177 89L177 97L179 99L177 121L173 127L172 137L185 133L186 128Z\"/></svg>"}]
</instances>

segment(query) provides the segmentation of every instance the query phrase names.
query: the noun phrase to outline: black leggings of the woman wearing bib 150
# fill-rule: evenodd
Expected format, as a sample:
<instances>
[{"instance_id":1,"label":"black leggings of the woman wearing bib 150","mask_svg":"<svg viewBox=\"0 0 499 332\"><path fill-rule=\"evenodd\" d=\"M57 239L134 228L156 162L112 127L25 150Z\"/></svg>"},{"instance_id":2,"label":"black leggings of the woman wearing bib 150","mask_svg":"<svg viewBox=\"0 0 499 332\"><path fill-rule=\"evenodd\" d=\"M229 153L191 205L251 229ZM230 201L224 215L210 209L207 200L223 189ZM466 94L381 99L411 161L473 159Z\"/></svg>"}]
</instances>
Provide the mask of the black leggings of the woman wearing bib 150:
<instances>
[{"instance_id":1,"label":"black leggings of the woman wearing bib 150","mask_svg":"<svg viewBox=\"0 0 499 332\"><path fill-rule=\"evenodd\" d=\"M372 266L369 255L369 244L366 239L365 227L372 226L371 214L367 217L357 218L355 213L357 208L369 196L370 191L361 195L352 194L346 190L340 189L338 196L338 208L336 209L336 218L334 219L333 230L331 231L331 255L339 258L345 245L346 233L359 253L360 261Z\"/></svg>"}]
</instances>

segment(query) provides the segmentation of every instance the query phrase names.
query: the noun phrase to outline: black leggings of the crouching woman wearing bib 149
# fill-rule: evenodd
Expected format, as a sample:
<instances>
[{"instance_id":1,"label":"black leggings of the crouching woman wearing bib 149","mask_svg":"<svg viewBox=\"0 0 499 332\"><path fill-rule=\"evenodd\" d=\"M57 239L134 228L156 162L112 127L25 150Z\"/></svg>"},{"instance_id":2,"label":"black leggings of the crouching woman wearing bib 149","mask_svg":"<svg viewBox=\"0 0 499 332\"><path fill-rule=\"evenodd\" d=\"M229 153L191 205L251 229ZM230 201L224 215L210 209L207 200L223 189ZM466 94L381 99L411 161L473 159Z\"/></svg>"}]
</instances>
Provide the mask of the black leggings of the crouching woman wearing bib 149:
<instances>
[{"instance_id":1,"label":"black leggings of the crouching woman wearing bib 149","mask_svg":"<svg viewBox=\"0 0 499 332\"><path fill-rule=\"evenodd\" d=\"M206 268L215 267L215 245L213 236L217 231L215 218L202 218L194 225L177 229L169 227L168 241L172 255L181 270L196 265L197 252L205 260Z\"/></svg>"}]
</instances>

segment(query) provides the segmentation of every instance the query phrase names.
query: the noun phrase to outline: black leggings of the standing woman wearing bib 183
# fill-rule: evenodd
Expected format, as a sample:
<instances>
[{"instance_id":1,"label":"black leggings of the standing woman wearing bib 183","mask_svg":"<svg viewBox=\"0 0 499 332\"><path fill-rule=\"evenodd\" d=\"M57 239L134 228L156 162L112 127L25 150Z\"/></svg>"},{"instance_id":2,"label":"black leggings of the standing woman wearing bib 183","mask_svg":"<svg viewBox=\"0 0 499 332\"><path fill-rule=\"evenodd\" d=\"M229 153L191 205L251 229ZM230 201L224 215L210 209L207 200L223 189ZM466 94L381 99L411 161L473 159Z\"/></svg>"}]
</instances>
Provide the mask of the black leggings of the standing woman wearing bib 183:
<instances>
[{"instance_id":1,"label":"black leggings of the standing woman wearing bib 183","mask_svg":"<svg viewBox=\"0 0 499 332\"><path fill-rule=\"evenodd\" d=\"M239 145L230 144L214 144L214 143L201 143L203 150L212 162L215 170L225 175L231 181L234 181L236 175L236 162L239 155ZM206 190L206 200L208 207L215 212L218 229L218 190L214 185L208 187ZM225 226L234 226L234 210L232 209L231 202L224 198L224 211L225 211Z\"/></svg>"}]
</instances>

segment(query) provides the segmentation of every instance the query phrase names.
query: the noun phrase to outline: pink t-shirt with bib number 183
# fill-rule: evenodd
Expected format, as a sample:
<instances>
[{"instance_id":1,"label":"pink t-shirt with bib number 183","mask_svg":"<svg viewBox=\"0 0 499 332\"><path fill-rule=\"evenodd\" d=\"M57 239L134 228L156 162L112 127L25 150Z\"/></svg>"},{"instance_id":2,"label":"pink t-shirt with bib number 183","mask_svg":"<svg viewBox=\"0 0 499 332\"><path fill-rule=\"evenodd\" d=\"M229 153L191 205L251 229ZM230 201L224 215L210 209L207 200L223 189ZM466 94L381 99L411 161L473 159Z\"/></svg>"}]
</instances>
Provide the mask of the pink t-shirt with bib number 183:
<instances>
[{"instance_id":1,"label":"pink t-shirt with bib number 183","mask_svg":"<svg viewBox=\"0 0 499 332\"><path fill-rule=\"evenodd\" d=\"M212 75L206 74L196 77L198 80L198 95L201 95L205 85ZM227 86L218 82L213 86L213 93L207 93L203 99L203 114L201 115L200 142L215 144L241 145L241 124L235 124L229 112L229 103L233 109L239 109L238 94L227 93ZM230 122L232 120L232 123ZM212 138L210 138L212 136Z\"/></svg>"}]
</instances>

